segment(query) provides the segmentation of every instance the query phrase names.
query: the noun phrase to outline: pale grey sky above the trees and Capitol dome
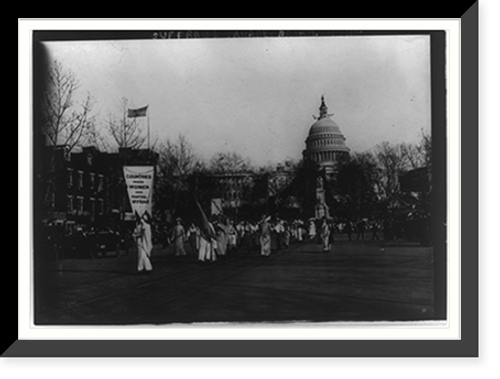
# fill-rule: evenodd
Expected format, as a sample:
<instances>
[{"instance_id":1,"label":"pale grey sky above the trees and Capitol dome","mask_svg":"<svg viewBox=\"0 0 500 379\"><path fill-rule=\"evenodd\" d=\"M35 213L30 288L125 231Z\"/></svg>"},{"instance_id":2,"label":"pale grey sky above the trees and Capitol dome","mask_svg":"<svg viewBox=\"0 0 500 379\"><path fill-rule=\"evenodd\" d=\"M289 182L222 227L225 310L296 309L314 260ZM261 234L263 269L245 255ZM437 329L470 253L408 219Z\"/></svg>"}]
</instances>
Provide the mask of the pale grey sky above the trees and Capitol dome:
<instances>
[{"instance_id":1,"label":"pale grey sky above the trees and Capitol dome","mask_svg":"<svg viewBox=\"0 0 500 379\"><path fill-rule=\"evenodd\" d=\"M299 160L324 95L352 152L430 131L425 35L47 42L109 113L148 105L151 139L187 137L209 160L237 152L255 165ZM147 128L147 119L140 119ZM145 129L146 130L146 129Z\"/></svg>"}]
</instances>

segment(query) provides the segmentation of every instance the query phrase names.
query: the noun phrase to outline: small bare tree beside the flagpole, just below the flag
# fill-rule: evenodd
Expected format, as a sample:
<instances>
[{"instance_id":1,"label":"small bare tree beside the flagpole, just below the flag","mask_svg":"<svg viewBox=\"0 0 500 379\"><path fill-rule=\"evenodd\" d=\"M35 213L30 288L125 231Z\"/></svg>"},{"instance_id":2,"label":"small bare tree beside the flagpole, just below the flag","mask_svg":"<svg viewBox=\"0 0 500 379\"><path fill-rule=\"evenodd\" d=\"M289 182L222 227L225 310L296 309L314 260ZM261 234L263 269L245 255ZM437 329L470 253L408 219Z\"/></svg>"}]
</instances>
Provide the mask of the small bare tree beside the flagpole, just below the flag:
<instances>
[{"instance_id":1,"label":"small bare tree beside the flagpole, just below the flag","mask_svg":"<svg viewBox=\"0 0 500 379\"><path fill-rule=\"evenodd\" d=\"M118 147L139 149L146 142L144 127L135 117L127 117L128 100L122 98L119 116L109 114L106 120L106 129Z\"/></svg>"}]
</instances>

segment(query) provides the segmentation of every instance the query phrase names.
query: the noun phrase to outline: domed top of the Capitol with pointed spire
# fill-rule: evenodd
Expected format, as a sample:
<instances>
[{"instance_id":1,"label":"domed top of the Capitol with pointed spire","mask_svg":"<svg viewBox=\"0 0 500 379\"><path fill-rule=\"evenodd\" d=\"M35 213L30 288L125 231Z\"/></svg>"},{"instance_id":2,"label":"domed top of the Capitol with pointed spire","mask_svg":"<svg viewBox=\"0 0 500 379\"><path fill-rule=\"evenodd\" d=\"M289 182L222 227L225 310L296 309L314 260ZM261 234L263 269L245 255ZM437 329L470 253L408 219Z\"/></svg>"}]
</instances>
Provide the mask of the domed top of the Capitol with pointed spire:
<instances>
[{"instance_id":1,"label":"domed top of the Capitol with pointed spire","mask_svg":"<svg viewBox=\"0 0 500 379\"><path fill-rule=\"evenodd\" d=\"M330 118L324 96L321 96L319 116L311 125L306 139L306 149L302 152L304 160L313 160L324 170L325 177L331 178L337 163L349 156L349 148L339 126Z\"/></svg>"}]
</instances>

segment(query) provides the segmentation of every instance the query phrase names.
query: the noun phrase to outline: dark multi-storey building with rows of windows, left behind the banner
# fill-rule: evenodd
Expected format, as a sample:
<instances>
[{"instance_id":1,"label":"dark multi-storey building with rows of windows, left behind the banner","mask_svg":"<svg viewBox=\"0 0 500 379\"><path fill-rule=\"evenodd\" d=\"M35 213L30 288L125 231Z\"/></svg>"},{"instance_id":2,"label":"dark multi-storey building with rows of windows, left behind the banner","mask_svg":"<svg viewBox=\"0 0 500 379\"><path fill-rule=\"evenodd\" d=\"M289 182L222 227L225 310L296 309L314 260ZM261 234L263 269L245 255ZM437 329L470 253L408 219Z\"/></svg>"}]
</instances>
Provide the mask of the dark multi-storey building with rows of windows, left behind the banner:
<instances>
[{"instance_id":1,"label":"dark multi-storey building with rows of windows, left behind the banner","mask_svg":"<svg viewBox=\"0 0 500 379\"><path fill-rule=\"evenodd\" d=\"M124 165L156 165L158 156L147 149L119 149L117 153L84 147L69 152L65 146L46 147L42 221L105 228L131 211L123 179Z\"/></svg>"}]
</instances>

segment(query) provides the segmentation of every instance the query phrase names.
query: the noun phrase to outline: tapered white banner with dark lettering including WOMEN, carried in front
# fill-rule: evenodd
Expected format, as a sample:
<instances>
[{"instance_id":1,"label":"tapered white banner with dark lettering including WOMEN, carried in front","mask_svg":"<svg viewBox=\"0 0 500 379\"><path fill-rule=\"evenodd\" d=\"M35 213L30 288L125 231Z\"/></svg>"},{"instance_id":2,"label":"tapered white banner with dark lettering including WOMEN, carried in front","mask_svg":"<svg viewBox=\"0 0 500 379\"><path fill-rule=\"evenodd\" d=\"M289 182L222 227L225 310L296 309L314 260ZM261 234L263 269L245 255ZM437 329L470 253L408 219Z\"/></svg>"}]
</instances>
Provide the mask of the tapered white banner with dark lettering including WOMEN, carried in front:
<instances>
[{"instance_id":1,"label":"tapered white banner with dark lettering including WOMEN, carried in front","mask_svg":"<svg viewBox=\"0 0 500 379\"><path fill-rule=\"evenodd\" d=\"M139 217L148 213L151 217L153 215L154 167L124 166L123 175L133 213L137 213Z\"/></svg>"}]
</instances>

